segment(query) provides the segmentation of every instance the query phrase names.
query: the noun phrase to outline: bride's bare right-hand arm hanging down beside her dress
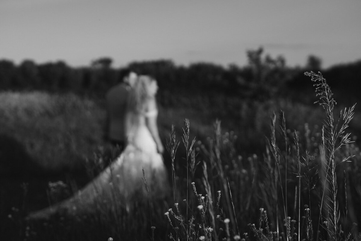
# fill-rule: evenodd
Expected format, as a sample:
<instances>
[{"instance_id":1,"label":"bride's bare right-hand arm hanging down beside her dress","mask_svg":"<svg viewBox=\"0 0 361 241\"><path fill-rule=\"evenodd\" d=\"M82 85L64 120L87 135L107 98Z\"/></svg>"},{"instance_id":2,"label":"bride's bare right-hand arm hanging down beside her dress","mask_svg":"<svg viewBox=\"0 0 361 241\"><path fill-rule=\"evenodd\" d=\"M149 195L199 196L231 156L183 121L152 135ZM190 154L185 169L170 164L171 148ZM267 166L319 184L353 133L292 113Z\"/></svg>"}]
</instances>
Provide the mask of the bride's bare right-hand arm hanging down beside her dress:
<instances>
[{"instance_id":1,"label":"bride's bare right-hand arm hanging down beside her dress","mask_svg":"<svg viewBox=\"0 0 361 241\"><path fill-rule=\"evenodd\" d=\"M146 117L145 123L147 124L147 127L148 127L149 131L151 132L154 141L157 144L158 152L163 153L164 147L163 147L163 144L162 144L160 136L159 136L158 125L157 125L157 116L158 116L158 111L157 111L156 102L155 102L155 99L152 98L148 102L147 114L145 116Z\"/></svg>"}]
</instances>

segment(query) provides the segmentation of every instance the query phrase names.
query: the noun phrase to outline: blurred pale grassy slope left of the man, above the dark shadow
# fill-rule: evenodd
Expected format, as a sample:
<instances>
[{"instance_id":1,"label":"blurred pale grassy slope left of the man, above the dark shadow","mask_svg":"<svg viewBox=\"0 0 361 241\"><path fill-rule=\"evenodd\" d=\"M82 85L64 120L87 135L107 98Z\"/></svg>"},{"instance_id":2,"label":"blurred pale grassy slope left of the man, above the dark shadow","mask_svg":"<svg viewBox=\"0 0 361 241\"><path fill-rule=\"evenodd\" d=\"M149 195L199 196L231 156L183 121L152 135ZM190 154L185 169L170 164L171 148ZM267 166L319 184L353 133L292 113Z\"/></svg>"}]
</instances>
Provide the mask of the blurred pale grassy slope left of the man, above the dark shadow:
<instances>
[{"instance_id":1,"label":"blurred pale grassy slope left of the man, above the dark shadow","mask_svg":"<svg viewBox=\"0 0 361 241\"><path fill-rule=\"evenodd\" d=\"M0 135L13 138L48 171L79 167L104 144L105 111L73 94L3 92L0 113ZM2 162L11 152L2 150Z\"/></svg>"}]
</instances>

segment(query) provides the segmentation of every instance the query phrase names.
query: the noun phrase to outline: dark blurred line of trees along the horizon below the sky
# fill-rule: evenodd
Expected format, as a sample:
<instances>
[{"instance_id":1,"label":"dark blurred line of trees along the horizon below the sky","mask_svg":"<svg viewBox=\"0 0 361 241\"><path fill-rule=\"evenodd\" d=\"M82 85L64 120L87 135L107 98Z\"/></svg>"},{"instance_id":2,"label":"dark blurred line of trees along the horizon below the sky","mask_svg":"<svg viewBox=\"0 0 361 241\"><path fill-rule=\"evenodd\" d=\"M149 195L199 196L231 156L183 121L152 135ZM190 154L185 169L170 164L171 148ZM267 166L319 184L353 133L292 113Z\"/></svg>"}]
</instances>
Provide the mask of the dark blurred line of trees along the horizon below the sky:
<instances>
[{"instance_id":1,"label":"dark blurred line of trees along the horizon below the sky","mask_svg":"<svg viewBox=\"0 0 361 241\"><path fill-rule=\"evenodd\" d=\"M226 93L251 99L269 99L277 96L293 96L303 89L312 89L303 73L321 70L322 61L309 56L303 67L289 67L282 56L271 57L262 47L247 51L245 66L231 64L227 67L213 63L175 65L172 60L135 61L127 66L113 68L112 59L102 57L90 66L72 68L64 61L36 64L24 60L15 65L10 60L0 60L1 90L46 90L51 92L73 91L77 94L104 96L105 92L122 81L125 69L140 74L150 74L158 81L166 94L201 95ZM336 92L355 93L361 79L361 61L336 65L322 70ZM355 93L356 94L356 93ZM352 100L350 100L352 101Z\"/></svg>"}]
</instances>

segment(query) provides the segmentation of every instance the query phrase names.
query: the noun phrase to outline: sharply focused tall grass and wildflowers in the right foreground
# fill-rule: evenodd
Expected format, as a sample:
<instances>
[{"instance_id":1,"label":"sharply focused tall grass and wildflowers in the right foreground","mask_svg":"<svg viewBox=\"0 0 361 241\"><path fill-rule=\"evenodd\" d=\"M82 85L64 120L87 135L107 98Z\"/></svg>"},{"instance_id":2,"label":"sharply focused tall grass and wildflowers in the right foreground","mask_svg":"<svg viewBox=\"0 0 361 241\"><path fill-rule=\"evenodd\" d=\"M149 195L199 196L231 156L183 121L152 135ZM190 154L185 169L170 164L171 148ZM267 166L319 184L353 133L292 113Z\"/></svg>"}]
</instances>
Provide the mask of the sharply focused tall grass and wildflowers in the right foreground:
<instances>
[{"instance_id":1,"label":"sharply focused tall grass and wildflowers in the right foreground","mask_svg":"<svg viewBox=\"0 0 361 241\"><path fill-rule=\"evenodd\" d=\"M231 240L233 237L238 240L243 236L245 240L358 240L358 236L353 233L355 226L346 225L349 219L347 207L342 230L338 206L340 198L345 198L347 202L347 194L355 196L356 193L347 191L344 179L345 195L337 195L337 175L346 173L342 165L346 162L358 165L352 161L356 155L348 154L343 148L349 148L352 143L345 129L352 120L355 105L341 111L335 121L333 115L336 102L326 80L321 73L305 74L315 82L316 95L319 97L317 103L325 110L321 137L318 133L314 137L310 136L308 125L305 125L302 138L299 131L287 130L284 112L281 110L279 134L276 115L271 118L271 134L263 160L253 155L248 158L249 165L244 168L246 163L242 156L237 158L236 151L232 149L234 143L227 145L229 133L222 139L220 121L216 121L214 138L209 139L206 145L196 147L202 159L203 171L201 177L191 177L194 195L190 198L187 193L187 199L184 200L186 205L183 213L186 216L182 215L179 205L176 211L169 209L165 213L174 231L174 234L170 234L171 239ZM189 122L186 121L184 133L189 133L189 128ZM278 144L278 136L283 142L282 147ZM172 138L175 138L174 132ZM183 143L189 155L191 151L184 139ZM311 143L316 148L307 150L312 147ZM188 162L188 157L186 160ZM187 190L190 188L189 178L187 176L187 185L184 187ZM181 186L177 184L178 188ZM202 192L204 196L200 194ZM215 193L218 193L217 199L214 199ZM251 205L250 202L244 202L247 199L252 200ZM214 208L214 203L217 203L217 208ZM257 212L257 209L260 211ZM244 220L244 212L247 212L247 220ZM191 214L190 218L188 213ZM256 216L259 216L258 227L249 224L249 228L246 228L245 224L255 221ZM316 227L317 231L313 232Z\"/></svg>"}]
</instances>

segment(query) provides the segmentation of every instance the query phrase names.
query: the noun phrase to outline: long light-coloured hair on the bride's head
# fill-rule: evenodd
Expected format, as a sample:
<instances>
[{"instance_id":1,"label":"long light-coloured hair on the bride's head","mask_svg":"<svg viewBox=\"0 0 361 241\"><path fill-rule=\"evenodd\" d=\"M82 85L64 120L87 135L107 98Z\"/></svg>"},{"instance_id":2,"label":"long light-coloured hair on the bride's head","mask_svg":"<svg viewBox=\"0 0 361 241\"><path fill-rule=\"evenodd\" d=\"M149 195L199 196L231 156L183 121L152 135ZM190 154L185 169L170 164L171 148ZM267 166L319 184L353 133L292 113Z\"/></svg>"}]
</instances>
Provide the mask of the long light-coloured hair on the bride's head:
<instances>
[{"instance_id":1,"label":"long light-coloured hair on the bride's head","mask_svg":"<svg viewBox=\"0 0 361 241\"><path fill-rule=\"evenodd\" d=\"M147 102L155 98L156 94L150 89L153 81L156 80L150 76L141 75L138 77L130 93L128 111L135 113L144 113L146 111Z\"/></svg>"}]
</instances>

